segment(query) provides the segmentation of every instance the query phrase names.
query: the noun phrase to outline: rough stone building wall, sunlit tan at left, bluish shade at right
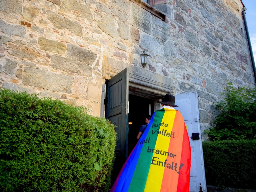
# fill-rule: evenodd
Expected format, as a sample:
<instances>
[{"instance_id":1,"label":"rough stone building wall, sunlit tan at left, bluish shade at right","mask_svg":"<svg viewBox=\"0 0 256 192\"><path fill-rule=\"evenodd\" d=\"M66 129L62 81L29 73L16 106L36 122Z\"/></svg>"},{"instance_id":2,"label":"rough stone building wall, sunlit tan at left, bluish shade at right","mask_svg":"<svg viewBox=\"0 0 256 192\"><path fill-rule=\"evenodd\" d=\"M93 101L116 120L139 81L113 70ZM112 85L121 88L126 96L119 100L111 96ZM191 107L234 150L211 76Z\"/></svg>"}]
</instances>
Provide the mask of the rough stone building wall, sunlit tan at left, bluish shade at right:
<instances>
[{"instance_id":1,"label":"rough stone building wall, sunlit tan at left, bluish shade at right","mask_svg":"<svg viewBox=\"0 0 256 192\"><path fill-rule=\"evenodd\" d=\"M100 116L106 80L129 67L131 84L150 83L152 95L162 86L158 98L197 91L203 134L228 80L255 86L242 7L240 0L0 0L0 87ZM158 98L151 97L155 109Z\"/></svg>"}]
</instances>

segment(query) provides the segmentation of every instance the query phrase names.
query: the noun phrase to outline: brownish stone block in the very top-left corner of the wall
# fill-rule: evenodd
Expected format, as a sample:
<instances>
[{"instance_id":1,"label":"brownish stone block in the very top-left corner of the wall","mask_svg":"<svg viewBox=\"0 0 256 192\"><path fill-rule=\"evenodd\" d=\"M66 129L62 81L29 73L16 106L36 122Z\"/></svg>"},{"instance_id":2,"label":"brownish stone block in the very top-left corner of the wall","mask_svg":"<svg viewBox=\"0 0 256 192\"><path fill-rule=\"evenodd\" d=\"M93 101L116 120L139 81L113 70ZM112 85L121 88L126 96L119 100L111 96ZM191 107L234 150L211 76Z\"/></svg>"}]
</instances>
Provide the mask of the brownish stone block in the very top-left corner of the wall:
<instances>
[{"instance_id":1,"label":"brownish stone block in the very top-left corner of the wall","mask_svg":"<svg viewBox=\"0 0 256 192\"><path fill-rule=\"evenodd\" d=\"M0 0L0 11L21 14L22 0Z\"/></svg>"}]
</instances>

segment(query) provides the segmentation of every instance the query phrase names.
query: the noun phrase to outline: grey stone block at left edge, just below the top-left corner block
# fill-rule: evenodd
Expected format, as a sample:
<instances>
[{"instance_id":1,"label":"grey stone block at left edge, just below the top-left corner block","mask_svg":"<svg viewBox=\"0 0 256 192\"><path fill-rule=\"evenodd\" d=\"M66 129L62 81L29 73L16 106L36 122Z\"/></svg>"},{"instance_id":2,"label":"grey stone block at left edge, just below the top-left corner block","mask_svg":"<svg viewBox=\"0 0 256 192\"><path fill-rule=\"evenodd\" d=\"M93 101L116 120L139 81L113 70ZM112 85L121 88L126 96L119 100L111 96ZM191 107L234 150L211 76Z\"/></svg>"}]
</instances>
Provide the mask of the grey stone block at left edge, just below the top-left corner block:
<instances>
[{"instance_id":1,"label":"grey stone block at left edge, just below the top-left corner block","mask_svg":"<svg viewBox=\"0 0 256 192\"><path fill-rule=\"evenodd\" d=\"M20 36L24 37L26 34L26 27L20 25L11 25L3 20L0 20L0 28L3 30L5 34L8 36Z\"/></svg>"}]
</instances>

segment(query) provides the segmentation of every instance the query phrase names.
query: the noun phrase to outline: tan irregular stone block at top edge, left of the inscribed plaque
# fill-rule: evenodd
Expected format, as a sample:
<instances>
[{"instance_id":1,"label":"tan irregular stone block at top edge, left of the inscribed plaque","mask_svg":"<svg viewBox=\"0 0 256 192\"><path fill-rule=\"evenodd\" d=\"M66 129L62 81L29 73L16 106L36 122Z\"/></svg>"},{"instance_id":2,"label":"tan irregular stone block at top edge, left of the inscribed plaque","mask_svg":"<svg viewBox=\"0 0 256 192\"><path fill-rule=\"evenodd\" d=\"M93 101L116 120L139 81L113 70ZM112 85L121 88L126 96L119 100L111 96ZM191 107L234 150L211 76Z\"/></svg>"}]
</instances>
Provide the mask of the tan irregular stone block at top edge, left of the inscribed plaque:
<instances>
[{"instance_id":1,"label":"tan irregular stone block at top edge, left of the inscribed plaque","mask_svg":"<svg viewBox=\"0 0 256 192\"><path fill-rule=\"evenodd\" d=\"M90 22L93 20L93 15L90 10L90 7L85 4L82 4L81 1L74 1L74 0L62 1L59 13L63 15L67 15L67 11L71 12L72 15L76 15L77 17L83 17Z\"/></svg>"}]
</instances>

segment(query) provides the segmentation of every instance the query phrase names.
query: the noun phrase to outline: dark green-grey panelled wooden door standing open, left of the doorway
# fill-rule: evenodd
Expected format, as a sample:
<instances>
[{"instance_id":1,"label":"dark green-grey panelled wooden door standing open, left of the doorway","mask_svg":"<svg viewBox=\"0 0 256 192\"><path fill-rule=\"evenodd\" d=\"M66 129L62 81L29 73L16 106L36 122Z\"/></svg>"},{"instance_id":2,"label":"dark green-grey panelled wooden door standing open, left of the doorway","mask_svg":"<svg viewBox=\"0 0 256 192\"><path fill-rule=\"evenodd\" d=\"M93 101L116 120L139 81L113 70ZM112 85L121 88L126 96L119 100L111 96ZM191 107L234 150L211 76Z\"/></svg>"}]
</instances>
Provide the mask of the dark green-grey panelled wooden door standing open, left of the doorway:
<instances>
[{"instance_id":1,"label":"dark green-grey panelled wooden door standing open, left of the doorway","mask_svg":"<svg viewBox=\"0 0 256 192\"><path fill-rule=\"evenodd\" d=\"M106 82L105 117L116 129L114 177L128 158L128 75L129 69L125 68Z\"/></svg>"}]
</instances>

